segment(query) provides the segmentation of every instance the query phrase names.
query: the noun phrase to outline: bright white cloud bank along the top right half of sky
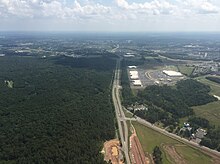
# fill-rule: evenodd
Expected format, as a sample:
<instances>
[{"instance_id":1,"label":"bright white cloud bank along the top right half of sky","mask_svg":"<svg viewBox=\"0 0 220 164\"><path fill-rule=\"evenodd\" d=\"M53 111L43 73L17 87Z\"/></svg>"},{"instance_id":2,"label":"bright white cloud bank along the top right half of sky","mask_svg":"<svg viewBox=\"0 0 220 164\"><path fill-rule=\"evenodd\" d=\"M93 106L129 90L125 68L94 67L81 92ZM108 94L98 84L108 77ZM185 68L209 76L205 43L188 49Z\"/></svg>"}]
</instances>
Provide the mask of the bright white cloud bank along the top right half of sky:
<instances>
[{"instance_id":1,"label":"bright white cloud bank along the top right half of sky","mask_svg":"<svg viewBox=\"0 0 220 164\"><path fill-rule=\"evenodd\" d=\"M208 0L177 0L175 3L166 0L144 3L128 3L126 0L115 0L115 2L121 9L148 15L184 16L184 14L217 14L219 11L219 7Z\"/></svg>"}]
</instances>

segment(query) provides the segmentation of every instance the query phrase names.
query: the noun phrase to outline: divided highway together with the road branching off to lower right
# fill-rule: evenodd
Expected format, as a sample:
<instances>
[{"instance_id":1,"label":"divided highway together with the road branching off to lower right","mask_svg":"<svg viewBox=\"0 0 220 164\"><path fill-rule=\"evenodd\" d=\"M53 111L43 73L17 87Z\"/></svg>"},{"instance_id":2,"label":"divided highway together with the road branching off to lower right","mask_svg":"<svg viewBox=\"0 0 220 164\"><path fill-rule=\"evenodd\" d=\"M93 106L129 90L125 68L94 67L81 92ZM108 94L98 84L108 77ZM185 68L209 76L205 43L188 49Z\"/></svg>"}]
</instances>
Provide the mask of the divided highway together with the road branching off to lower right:
<instances>
[{"instance_id":1,"label":"divided highway together with the road branching off to lower right","mask_svg":"<svg viewBox=\"0 0 220 164\"><path fill-rule=\"evenodd\" d=\"M182 142L190 147L193 147L195 149L199 149L202 152L212 156L212 157L217 157L220 158L220 152L209 149L204 146L200 146L199 144L189 141L187 139L181 138L178 135L175 135L173 133L169 133L164 129L158 128L151 124L150 122L147 122L146 120L143 120L139 117L135 118L127 118L124 114L124 111L122 109L121 105L121 99L120 99L120 62L121 59L117 60L116 64L116 69L115 69L115 75L114 75L114 81L113 81L113 87L112 87L112 99L115 107L115 113L116 113L116 118L117 118L117 123L118 123L118 131L119 131L119 136L120 136L120 141L122 145L122 151L124 152L124 157L125 161L127 164L130 164L130 157L129 157L129 146L128 146L128 126L126 121L131 120L131 121L137 121L138 123L151 128L161 134L164 134L172 139L175 139L179 142Z\"/></svg>"}]
</instances>

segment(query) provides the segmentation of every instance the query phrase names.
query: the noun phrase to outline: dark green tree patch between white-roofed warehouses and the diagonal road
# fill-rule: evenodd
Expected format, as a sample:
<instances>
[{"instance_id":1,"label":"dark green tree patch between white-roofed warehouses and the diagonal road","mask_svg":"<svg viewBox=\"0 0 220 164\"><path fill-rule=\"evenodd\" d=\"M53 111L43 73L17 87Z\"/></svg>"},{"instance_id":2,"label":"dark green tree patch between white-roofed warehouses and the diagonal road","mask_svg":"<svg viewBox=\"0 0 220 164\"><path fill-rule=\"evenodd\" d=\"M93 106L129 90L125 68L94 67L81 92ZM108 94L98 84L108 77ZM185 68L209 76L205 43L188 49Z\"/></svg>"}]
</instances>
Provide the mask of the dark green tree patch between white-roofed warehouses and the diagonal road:
<instances>
[{"instance_id":1,"label":"dark green tree patch between white-roofed warehouses and the diagonal road","mask_svg":"<svg viewBox=\"0 0 220 164\"><path fill-rule=\"evenodd\" d=\"M203 105L216 98L209 95L210 87L192 79L177 82L171 86L149 86L138 93L141 101L162 108L173 118L182 118L193 114L192 106Z\"/></svg>"}]
</instances>

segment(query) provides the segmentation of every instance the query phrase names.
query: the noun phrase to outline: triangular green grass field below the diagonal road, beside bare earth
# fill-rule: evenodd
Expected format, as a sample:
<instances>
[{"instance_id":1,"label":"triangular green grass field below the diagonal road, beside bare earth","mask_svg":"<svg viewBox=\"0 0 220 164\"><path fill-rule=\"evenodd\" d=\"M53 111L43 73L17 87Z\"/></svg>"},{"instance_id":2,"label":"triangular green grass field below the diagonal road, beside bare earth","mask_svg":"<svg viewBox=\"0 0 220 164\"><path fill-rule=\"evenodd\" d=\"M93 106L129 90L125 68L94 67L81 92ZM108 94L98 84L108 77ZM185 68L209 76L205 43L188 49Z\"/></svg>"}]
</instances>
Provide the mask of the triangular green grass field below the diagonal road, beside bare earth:
<instances>
[{"instance_id":1,"label":"triangular green grass field below the diagonal road, beside bare earth","mask_svg":"<svg viewBox=\"0 0 220 164\"><path fill-rule=\"evenodd\" d=\"M170 156L163 149L162 145L174 146L176 149L176 152L186 161L186 163L193 163L193 164L212 163L211 157L203 154L199 150L190 148L176 140L173 140L165 135L162 135L136 122L133 122L133 125L136 129L138 138L141 142L144 152L146 154L152 153L153 148L155 146L159 146L163 153L162 158L163 158L164 164L172 163L173 157Z\"/></svg>"}]
</instances>

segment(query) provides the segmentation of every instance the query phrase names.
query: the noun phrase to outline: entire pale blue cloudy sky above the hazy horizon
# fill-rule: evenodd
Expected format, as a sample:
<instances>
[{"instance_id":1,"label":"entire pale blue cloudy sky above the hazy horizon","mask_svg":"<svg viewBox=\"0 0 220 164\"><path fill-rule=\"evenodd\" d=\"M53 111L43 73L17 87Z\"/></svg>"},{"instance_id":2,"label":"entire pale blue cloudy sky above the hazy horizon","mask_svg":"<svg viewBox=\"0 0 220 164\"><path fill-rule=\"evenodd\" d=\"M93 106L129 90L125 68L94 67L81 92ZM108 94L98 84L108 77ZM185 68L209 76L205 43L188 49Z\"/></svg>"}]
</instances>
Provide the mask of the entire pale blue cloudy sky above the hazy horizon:
<instances>
[{"instance_id":1,"label":"entire pale blue cloudy sky above the hazy horizon","mask_svg":"<svg viewBox=\"0 0 220 164\"><path fill-rule=\"evenodd\" d=\"M1 31L220 31L220 0L0 0Z\"/></svg>"}]
</instances>

